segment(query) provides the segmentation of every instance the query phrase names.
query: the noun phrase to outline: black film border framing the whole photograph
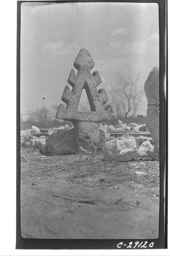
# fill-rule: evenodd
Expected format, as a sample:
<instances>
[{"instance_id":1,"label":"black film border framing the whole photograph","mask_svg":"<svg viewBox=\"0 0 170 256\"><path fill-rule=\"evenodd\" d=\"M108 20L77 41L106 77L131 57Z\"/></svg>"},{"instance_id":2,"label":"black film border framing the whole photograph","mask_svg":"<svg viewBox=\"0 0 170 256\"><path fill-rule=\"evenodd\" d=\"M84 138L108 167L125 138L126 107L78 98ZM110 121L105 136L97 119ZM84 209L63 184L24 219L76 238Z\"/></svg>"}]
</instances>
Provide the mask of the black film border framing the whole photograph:
<instances>
[{"instance_id":1,"label":"black film border framing the whole photograph","mask_svg":"<svg viewBox=\"0 0 170 256\"><path fill-rule=\"evenodd\" d=\"M159 96L160 96L160 204L159 236L157 239L33 239L21 237L20 217L20 24L23 2L126 2L157 3L159 7ZM16 97L16 249L119 249L117 244L124 242L148 241L154 246L146 249L167 248L168 216L168 40L167 40L167 0L112 0L112 1L17 1L17 97ZM165 85L166 84L166 85ZM121 247L126 249L126 247ZM140 249L140 248L136 248ZM144 248L142 248L144 249Z\"/></svg>"}]
</instances>

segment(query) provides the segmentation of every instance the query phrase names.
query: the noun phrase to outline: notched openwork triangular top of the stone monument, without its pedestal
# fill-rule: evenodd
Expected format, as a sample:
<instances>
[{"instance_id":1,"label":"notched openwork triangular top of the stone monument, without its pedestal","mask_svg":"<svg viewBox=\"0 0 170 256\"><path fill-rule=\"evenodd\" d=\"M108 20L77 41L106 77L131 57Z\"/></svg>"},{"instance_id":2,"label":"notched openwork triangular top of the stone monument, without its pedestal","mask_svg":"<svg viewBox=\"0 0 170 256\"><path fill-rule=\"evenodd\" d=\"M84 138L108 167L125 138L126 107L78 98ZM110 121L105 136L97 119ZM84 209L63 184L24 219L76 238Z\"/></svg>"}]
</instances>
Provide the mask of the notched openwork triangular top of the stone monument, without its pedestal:
<instances>
[{"instance_id":1,"label":"notched openwork triangular top of the stone monument, without its pedestal","mask_svg":"<svg viewBox=\"0 0 170 256\"><path fill-rule=\"evenodd\" d=\"M64 109L60 104L57 110L56 118L68 121L108 121L114 120L115 116L110 106L103 107L108 101L104 89L97 91L97 86L101 84L101 78L98 71L93 72L91 69L95 66L89 52L82 48L74 62L74 67L78 70L75 75L74 69L71 70L67 82L73 87L70 92L69 86L66 85L61 100L67 104ZM81 94L85 89L87 98L91 107L91 112L78 112Z\"/></svg>"}]
</instances>

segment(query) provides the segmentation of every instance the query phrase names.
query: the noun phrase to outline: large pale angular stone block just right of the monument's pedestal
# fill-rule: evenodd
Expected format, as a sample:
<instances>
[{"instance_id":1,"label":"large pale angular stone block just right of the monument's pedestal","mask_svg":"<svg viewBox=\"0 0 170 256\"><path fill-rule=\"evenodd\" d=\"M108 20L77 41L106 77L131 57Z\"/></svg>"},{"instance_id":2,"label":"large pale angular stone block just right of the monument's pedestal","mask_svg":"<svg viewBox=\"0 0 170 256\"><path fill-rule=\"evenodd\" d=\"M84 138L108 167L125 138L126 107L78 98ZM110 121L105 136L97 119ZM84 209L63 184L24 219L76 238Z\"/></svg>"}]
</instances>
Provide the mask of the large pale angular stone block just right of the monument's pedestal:
<instances>
[{"instance_id":1,"label":"large pale angular stone block just right of the monument's pedestal","mask_svg":"<svg viewBox=\"0 0 170 256\"><path fill-rule=\"evenodd\" d=\"M136 154L136 140L122 139L109 140L103 146L103 157L105 161L121 161L128 162L132 160Z\"/></svg>"}]
</instances>

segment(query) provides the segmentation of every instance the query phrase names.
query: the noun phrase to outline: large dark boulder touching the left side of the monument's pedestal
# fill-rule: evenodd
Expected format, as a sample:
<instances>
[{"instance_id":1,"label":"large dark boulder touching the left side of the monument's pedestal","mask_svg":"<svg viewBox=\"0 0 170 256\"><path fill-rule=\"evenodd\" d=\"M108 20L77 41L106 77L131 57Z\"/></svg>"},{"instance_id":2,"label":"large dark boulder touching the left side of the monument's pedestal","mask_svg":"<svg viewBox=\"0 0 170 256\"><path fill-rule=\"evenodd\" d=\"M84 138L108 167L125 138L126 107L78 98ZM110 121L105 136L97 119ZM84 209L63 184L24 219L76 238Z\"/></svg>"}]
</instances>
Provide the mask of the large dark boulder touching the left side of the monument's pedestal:
<instances>
[{"instance_id":1,"label":"large dark boulder touching the left side of the monument's pedestal","mask_svg":"<svg viewBox=\"0 0 170 256\"><path fill-rule=\"evenodd\" d=\"M74 139L74 129L51 134L46 139L46 145L51 154L76 154L77 147Z\"/></svg>"}]
</instances>

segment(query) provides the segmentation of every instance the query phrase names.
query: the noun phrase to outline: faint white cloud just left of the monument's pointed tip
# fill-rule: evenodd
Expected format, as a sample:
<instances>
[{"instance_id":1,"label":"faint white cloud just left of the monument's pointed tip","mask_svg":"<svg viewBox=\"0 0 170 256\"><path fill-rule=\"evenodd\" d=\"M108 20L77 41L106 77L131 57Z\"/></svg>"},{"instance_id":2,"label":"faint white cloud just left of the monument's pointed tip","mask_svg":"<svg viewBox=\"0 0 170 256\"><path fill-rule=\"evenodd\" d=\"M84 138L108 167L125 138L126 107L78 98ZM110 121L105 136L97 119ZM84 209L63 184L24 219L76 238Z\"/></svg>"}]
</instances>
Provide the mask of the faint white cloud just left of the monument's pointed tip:
<instances>
[{"instance_id":1,"label":"faint white cloud just left of the monument's pointed tip","mask_svg":"<svg viewBox=\"0 0 170 256\"><path fill-rule=\"evenodd\" d=\"M64 42L50 42L43 46L43 49L45 51L51 51L57 55L64 55L67 53L73 52L75 49L77 49L77 43L73 42L71 44L65 44Z\"/></svg>"}]
</instances>

